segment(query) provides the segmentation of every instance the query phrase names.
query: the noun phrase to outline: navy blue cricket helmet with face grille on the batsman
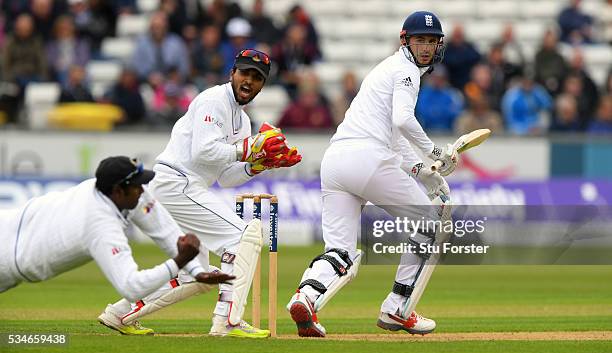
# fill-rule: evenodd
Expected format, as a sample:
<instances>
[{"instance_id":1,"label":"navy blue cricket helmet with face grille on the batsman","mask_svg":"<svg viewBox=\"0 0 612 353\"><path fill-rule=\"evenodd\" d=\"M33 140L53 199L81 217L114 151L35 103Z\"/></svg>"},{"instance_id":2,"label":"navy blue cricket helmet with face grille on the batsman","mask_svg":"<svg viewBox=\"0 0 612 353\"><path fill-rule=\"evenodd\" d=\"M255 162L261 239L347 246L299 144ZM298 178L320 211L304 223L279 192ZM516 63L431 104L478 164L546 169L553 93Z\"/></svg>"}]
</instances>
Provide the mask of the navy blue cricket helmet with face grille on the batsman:
<instances>
[{"instance_id":1,"label":"navy blue cricket helmet with face grille on the batsman","mask_svg":"<svg viewBox=\"0 0 612 353\"><path fill-rule=\"evenodd\" d=\"M438 47L436 48L436 53L434 58L430 64L423 65L419 64L416 59L414 59L414 54L412 54L412 50L408 46L408 38L410 36L416 35L433 35L440 38L440 42ZM404 47L406 47L413 56L414 63L419 67L432 66L436 63L439 63L444 58L444 31L442 31L442 24L433 12L429 11L416 11L413 12L410 16L406 18L404 21L404 25L402 26L402 31L400 32L400 41Z\"/></svg>"}]
</instances>

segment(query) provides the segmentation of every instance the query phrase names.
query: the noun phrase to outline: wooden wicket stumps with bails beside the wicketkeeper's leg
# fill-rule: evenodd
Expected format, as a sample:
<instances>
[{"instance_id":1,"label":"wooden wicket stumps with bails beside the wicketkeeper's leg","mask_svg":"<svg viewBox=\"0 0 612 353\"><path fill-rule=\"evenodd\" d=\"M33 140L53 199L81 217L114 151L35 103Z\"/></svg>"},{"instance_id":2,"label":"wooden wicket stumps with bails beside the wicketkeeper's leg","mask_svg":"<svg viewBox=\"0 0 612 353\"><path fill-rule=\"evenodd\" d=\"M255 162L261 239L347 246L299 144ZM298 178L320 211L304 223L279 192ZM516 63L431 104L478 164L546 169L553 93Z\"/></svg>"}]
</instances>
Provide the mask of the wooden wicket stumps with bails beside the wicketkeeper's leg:
<instances>
[{"instance_id":1,"label":"wooden wicket stumps with bails beside the wicketkeeper's leg","mask_svg":"<svg viewBox=\"0 0 612 353\"><path fill-rule=\"evenodd\" d=\"M261 220L261 200L270 202L270 252L268 264L268 329L276 337L276 291L277 291L277 241L278 241L278 198L271 194L241 194L236 196L236 214L244 219L244 200L253 200L253 218ZM257 260L253 277L253 326L261 324L261 257Z\"/></svg>"}]
</instances>

